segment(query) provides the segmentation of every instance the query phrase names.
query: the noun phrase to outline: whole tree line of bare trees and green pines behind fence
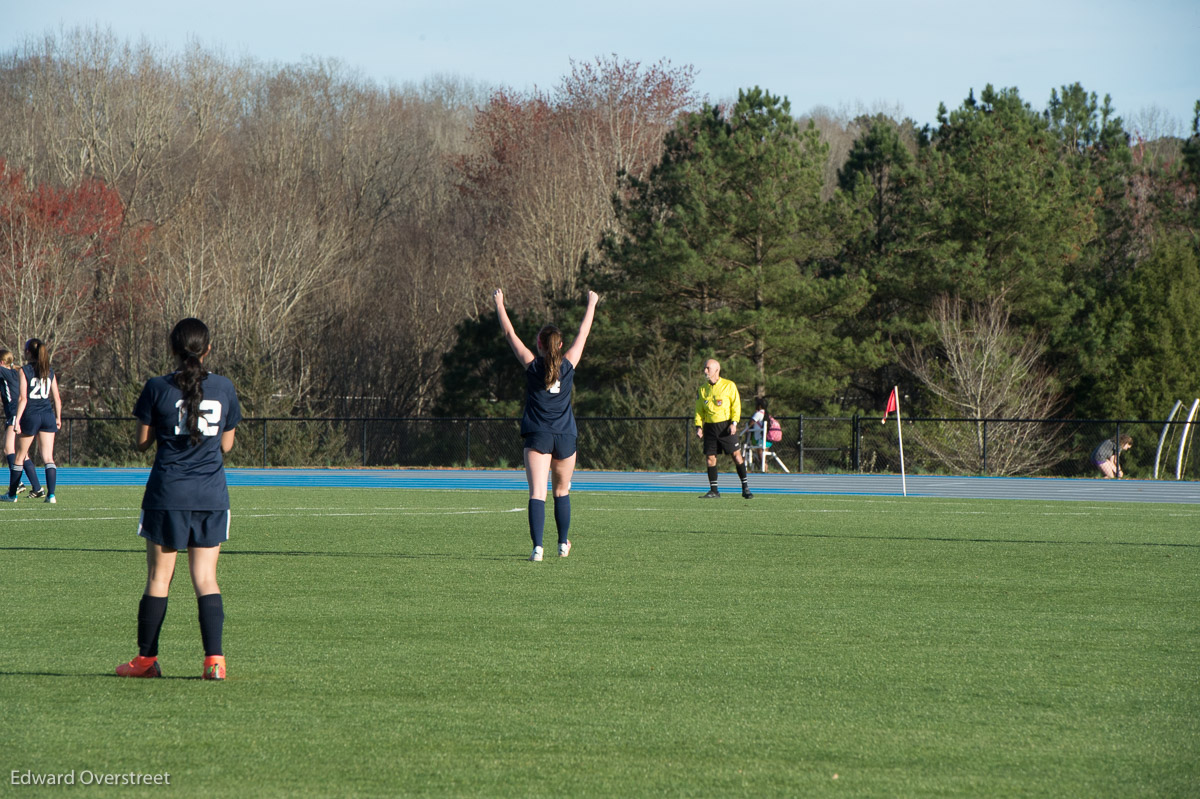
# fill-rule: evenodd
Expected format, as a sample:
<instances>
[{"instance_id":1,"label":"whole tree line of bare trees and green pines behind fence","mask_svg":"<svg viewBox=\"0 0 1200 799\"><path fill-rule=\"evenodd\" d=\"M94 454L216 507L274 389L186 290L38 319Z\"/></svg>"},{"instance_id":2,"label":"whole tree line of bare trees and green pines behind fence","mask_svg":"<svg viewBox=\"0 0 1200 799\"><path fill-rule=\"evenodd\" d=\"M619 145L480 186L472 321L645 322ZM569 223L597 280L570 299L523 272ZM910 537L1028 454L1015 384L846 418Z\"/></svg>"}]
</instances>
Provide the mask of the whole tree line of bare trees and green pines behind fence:
<instances>
[{"instance_id":1,"label":"whole tree line of bare trees and green pines behind fence","mask_svg":"<svg viewBox=\"0 0 1200 799\"><path fill-rule=\"evenodd\" d=\"M68 408L127 413L198 316L251 415L510 415L498 286L524 336L602 293L584 415L685 414L709 356L776 415L1200 395L1200 103L1150 137L989 85L918 127L668 61L384 88L95 29L4 54L0 91L0 343L50 342Z\"/></svg>"}]
</instances>

